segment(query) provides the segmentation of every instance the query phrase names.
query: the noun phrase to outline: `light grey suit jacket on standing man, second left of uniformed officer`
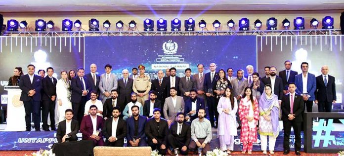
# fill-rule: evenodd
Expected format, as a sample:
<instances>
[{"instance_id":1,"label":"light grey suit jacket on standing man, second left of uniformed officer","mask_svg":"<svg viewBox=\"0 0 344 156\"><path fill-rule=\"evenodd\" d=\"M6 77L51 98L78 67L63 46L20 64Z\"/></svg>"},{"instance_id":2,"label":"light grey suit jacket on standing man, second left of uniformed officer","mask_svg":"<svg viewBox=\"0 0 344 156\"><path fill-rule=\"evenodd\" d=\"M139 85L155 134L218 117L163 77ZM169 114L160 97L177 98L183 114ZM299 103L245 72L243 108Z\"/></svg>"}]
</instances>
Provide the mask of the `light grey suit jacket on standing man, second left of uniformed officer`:
<instances>
[{"instance_id":1,"label":"light grey suit jacket on standing man, second left of uniformed officer","mask_svg":"<svg viewBox=\"0 0 344 156\"><path fill-rule=\"evenodd\" d=\"M110 73L109 82L106 83L106 73L100 75L99 81L99 91L100 91L100 99L103 99L105 95L103 94L105 91L110 92L113 89L117 89L117 76Z\"/></svg>"}]
</instances>

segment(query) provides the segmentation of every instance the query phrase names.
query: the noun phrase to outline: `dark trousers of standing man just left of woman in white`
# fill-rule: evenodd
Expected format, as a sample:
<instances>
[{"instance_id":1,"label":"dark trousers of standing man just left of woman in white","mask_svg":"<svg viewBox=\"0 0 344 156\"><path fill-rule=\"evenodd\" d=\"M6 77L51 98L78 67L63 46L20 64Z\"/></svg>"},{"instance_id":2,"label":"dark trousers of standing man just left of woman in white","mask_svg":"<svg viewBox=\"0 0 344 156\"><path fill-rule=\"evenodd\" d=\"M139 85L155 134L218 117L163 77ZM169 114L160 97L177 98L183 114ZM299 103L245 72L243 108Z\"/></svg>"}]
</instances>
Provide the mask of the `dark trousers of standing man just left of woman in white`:
<instances>
[{"instance_id":1,"label":"dark trousers of standing man just left of woman in white","mask_svg":"<svg viewBox=\"0 0 344 156\"><path fill-rule=\"evenodd\" d=\"M49 129L48 126L48 114L50 116L50 127L51 130L56 129L55 127L55 101L47 100L43 101L42 106L42 128L43 130Z\"/></svg>"}]
</instances>

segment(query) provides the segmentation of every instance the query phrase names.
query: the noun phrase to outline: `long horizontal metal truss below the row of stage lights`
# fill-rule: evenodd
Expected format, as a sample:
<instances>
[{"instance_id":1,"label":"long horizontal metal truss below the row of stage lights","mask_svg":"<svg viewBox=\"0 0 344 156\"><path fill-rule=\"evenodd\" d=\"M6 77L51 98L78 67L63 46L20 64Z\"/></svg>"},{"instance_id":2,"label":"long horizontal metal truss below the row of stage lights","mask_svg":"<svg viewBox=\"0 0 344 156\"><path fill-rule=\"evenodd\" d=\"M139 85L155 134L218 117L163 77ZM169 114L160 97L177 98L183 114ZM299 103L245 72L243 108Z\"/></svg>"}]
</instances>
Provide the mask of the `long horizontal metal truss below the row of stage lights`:
<instances>
[{"instance_id":1,"label":"long horizontal metal truss below the row of stage lights","mask_svg":"<svg viewBox=\"0 0 344 156\"><path fill-rule=\"evenodd\" d=\"M4 32L8 37L99 37L99 36L316 36L341 35L340 29L312 30L252 30L252 31L194 31L194 32L143 32L143 31L78 31L78 32Z\"/></svg>"}]
</instances>

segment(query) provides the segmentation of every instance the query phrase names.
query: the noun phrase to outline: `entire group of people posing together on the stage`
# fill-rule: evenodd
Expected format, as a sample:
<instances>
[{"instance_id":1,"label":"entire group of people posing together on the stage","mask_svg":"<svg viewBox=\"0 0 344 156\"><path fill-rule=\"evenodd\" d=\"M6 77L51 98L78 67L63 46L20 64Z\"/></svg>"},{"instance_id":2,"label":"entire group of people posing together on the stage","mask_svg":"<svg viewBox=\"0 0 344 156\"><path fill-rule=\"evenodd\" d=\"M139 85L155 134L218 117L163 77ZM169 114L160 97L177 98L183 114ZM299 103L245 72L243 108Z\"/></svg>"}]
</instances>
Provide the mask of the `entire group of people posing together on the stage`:
<instances>
[{"instance_id":1,"label":"entire group of people posing together on the stage","mask_svg":"<svg viewBox=\"0 0 344 156\"><path fill-rule=\"evenodd\" d=\"M170 147L185 155L197 148L205 154L210 150L214 127L222 151L233 150L237 129L241 129L243 154L252 153L258 132L263 154L267 153L267 137L273 154L281 118L284 154L289 153L293 126L295 152L300 155L304 104L307 112L312 112L313 101L319 112L331 112L336 102L335 78L328 75L328 66L321 67L322 75L315 78L308 73L306 62L301 63L301 74L291 70L291 61L284 64L285 70L278 76L276 67L265 67L265 76L259 77L252 65L246 67L245 77L241 69L234 77L232 68L227 69L226 76L223 69L216 72L215 63L211 63L207 74L199 64L194 75L187 68L185 77L179 78L171 68L165 75L158 71L158 78L153 80L145 75L143 65L133 68L130 76L127 69L123 70L123 78L118 79L111 73L111 65L105 65L106 73L99 76L97 66L91 64L89 74L85 75L83 68L62 71L59 80L52 77L51 67L46 69L46 77L40 70L40 75L44 72L40 77L34 74L35 66L28 65L26 75L15 68L9 83L22 89L27 131L31 131L31 113L35 129L40 131L41 107L43 130L49 131L49 126L56 130L55 102L58 104L59 142L77 140L80 129L83 139L93 140L97 146L123 146L126 137L128 146L151 146L163 155Z\"/></svg>"}]
</instances>

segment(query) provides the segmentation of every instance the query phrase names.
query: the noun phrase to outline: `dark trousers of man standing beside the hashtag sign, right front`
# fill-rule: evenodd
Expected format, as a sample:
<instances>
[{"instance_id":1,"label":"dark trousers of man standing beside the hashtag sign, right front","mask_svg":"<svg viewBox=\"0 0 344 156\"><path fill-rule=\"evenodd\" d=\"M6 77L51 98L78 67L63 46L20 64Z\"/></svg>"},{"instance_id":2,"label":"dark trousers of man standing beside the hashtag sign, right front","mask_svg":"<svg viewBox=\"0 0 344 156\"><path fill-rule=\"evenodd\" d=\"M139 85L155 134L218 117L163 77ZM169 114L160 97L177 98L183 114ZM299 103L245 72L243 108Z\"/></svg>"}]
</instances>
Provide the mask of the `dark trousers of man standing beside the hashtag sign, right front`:
<instances>
[{"instance_id":1,"label":"dark trousers of man standing beside the hashtag sign, right front","mask_svg":"<svg viewBox=\"0 0 344 156\"><path fill-rule=\"evenodd\" d=\"M295 151L301 150L301 123L302 122L295 122L295 121L283 121L283 128L284 128L284 138L283 138L283 149L284 151L290 151L289 147L289 139L290 139L290 131L293 127L294 134L295 134L295 143L294 148Z\"/></svg>"}]
</instances>

